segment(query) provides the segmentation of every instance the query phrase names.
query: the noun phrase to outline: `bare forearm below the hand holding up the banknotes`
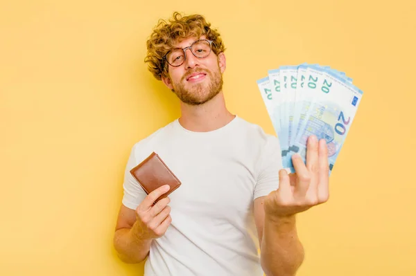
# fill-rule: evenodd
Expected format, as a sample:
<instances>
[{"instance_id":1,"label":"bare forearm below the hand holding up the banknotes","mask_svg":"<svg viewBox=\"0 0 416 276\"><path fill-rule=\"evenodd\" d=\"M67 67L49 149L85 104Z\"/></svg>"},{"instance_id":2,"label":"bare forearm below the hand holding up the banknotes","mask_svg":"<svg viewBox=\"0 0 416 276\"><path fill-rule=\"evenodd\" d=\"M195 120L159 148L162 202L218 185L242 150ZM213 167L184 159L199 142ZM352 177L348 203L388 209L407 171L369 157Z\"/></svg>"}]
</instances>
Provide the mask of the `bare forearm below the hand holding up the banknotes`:
<instances>
[{"instance_id":1,"label":"bare forearm below the hand holding up the banknotes","mask_svg":"<svg viewBox=\"0 0 416 276\"><path fill-rule=\"evenodd\" d=\"M293 276L304 259L295 216L272 220L266 215L261 240L261 266L267 276Z\"/></svg>"}]
</instances>

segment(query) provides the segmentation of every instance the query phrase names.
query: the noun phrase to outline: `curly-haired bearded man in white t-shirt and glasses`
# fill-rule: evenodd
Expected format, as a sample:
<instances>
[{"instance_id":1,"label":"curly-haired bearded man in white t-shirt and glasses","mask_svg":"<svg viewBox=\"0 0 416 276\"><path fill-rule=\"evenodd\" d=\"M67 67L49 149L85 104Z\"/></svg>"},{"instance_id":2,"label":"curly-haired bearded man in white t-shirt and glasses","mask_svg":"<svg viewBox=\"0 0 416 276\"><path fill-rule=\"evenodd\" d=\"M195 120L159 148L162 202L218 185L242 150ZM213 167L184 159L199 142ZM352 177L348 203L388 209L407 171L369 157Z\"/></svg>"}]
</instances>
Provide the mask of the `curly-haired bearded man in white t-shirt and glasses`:
<instances>
[{"instance_id":1,"label":"curly-haired bearded man in white t-shirt and glasses","mask_svg":"<svg viewBox=\"0 0 416 276\"><path fill-rule=\"evenodd\" d=\"M200 15L160 21L147 42L149 70L180 99L181 116L132 148L114 247L145 275L295 275L304 257L295 215L328 199L324 140L308 141L296 173L279 140L227 110L224 45ZM130 169L155 151L182 185L146 194ZM258 251L260 250L260 254Z\"/></svg>"}]
</instances>

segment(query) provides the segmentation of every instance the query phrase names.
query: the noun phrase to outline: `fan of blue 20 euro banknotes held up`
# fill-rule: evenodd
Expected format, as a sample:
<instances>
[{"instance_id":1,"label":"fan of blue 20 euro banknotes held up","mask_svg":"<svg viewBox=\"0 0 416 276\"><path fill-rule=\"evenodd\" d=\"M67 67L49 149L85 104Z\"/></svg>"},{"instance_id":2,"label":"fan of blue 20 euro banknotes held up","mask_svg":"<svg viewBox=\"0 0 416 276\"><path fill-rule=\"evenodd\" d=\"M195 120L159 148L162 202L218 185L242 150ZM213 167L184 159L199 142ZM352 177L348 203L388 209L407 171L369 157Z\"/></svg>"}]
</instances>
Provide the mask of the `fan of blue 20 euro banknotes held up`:
<instances>
[{"instance_id":1,"label":"fan of blue 20 euro banknotes held up","mask_svg":"<svg viewBox=\"0 0 416 276\"><path fill-rule=\"evenodd\" d=\"M257 85L280 141L283 166L295 172L295 153L306 163L306 141L315 135L327 141L331 174L363 91L344 72L306 63L271 69Z\"/></svg>"}]
</instances>

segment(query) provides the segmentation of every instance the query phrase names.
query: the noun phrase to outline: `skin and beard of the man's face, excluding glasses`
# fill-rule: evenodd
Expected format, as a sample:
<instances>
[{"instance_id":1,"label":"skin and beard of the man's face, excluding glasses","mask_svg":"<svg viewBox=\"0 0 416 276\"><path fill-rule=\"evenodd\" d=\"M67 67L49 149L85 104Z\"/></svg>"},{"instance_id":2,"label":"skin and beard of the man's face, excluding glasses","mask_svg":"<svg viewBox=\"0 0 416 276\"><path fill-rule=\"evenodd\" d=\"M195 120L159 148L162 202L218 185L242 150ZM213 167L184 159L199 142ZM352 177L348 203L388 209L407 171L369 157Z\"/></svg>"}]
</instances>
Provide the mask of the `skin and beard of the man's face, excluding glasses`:
<instances>
[{"instance_id":1,"label":"skin and beard of the man's face, excluding glasses","mask_svg":"<svg viewBox=\"0 0 416 276\"><path fill-rule=\"evenodd\" d=\"M203 39L205 37L201 37ZM195 37L179 42L175 47L190 46ZM189 105L200 105L214 98L223 89L223 72L225 71L225 55L215 55L214 51L204 58L198 58L187 49L187 58L181 66L169 65L169 77L162 80L177 97Z\"/></svg>"}]
</instances>

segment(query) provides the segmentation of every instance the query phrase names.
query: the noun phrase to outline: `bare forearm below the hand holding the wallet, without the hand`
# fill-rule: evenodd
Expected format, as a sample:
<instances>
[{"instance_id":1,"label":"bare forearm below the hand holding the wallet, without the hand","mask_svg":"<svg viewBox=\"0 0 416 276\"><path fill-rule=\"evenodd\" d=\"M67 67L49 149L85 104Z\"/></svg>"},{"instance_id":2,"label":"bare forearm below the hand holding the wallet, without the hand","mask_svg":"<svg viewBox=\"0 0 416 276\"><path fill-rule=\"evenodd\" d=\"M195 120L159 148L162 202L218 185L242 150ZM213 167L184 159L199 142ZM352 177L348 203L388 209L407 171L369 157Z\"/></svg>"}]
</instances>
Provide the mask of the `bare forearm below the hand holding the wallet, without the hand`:
<instances>
[{"instance_id":1,"label":"bare forearm below the hand holding the wallet, without the hand","mask_svg":"<svg viewBox=\"0 0 416 276\"><path fill-rule=\"evenodd\" d=\"M133 226L135 228L135 226ZM114 233L114 248L125 263L136 264L144 261L150 250L152 240L142 240L134 230L123 228Z\"/></svg>"}]
</instances>

